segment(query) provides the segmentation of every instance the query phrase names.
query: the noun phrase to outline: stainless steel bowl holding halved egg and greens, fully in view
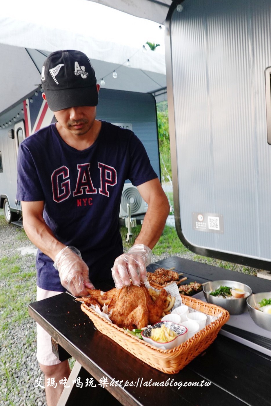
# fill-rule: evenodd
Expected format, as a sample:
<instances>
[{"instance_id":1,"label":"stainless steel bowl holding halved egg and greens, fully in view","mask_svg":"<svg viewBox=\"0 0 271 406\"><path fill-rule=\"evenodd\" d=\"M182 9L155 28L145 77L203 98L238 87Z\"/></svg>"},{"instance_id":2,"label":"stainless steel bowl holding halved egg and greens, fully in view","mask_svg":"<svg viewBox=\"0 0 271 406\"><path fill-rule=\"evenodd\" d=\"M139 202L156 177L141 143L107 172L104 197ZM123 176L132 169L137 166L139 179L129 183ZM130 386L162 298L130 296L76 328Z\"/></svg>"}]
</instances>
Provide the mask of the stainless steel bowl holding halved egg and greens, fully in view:
<instances>
[{"instance_id":1,"label":"stainless steel bowl holding halved egg and greens, fully in view","mask_svg":"<svg viewBox=\"0 0 271 406\"><path fill-rule=\"evenodd\" d=\"M249 292L251 295L252 291L249 286L241 282L235 281L210 281L203 286L204 297L208 303L215 304L216 306L223 307L223 309L228 310L230 314L241 314L245 311L247 297L236 298L236 299L223 299L217 296L212 296L209 292L214 291L219 286L235 287L237 289L243 289L245 292Z\"/></svg>"}]
</instances>

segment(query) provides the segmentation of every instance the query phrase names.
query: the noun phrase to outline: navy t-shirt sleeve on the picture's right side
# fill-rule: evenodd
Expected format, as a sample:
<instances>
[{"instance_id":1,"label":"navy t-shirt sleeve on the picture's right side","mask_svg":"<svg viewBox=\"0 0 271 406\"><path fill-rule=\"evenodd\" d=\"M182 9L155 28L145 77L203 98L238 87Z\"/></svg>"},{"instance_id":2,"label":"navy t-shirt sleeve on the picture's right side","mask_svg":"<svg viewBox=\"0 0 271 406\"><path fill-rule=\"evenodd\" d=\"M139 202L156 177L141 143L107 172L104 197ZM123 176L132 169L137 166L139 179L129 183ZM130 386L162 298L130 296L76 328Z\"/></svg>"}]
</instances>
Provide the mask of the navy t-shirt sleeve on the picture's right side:
<instances>
[{"instance_id":1,"label":"navy t-shirt sleeve on the picture's right side","mask_svg":"<svg viewBox=\"0 0 271 406\"><path fill-rule=\"evenodd\" d=\"M147 155L144 145L141 140L132 133L130 140L130 181L134 186L139 186L147 181L156 179L158 175L155 173L150 159Z\"/></svg>"}]
</instances>

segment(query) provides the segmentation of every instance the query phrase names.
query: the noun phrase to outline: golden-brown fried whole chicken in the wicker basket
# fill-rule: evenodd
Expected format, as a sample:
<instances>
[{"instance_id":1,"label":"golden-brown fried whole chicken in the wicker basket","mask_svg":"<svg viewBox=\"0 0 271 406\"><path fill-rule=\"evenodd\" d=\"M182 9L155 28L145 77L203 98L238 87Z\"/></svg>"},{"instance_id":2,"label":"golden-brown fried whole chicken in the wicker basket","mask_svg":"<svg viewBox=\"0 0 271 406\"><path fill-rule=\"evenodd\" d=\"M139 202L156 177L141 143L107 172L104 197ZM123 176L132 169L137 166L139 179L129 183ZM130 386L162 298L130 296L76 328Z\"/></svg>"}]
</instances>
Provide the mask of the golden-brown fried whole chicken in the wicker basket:
<instances>
[{"instance_id":1,"label":"golden-brown fried whole chicken in the wicker basket","mask_svg":"<svg viewBox=\"0 0 271 406\"><path fill-rule=\"evenodd\" d=\"M111 289L102 292L97 289L87 289L90 296L82 297L88 306L98 304L100 309L108 305L111 321L119 327L129 330L143 328L148 324L158 322L166 307L167 292L161 289L159 296L153 300L148 289L144 286L124 286L121 289Z\"/></svg>"}]
</instances>

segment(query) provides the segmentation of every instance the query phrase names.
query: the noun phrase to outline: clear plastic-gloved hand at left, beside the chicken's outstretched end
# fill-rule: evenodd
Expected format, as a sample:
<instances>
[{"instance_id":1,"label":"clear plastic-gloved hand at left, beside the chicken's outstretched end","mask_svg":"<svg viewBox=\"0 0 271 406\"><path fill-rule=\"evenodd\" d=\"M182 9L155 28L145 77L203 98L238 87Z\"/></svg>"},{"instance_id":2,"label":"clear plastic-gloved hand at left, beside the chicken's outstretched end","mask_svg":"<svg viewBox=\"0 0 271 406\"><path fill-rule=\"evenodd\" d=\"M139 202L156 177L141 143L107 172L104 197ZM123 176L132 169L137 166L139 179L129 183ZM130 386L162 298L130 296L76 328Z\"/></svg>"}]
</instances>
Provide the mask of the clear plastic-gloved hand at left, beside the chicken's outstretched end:
<instances>
[{"instance_id":1,"label":"clear plastic-gloved hand at left, beside the chicken's outstretched end","mask_svg":"<svg viewBox=\"0 0 271 406\"><path fill-rule=\"evenodd\" d=\"M89 293L85 289L93 289L89 280L89 267L82 260L80 251L72 246L61 250L55 258L54 268L59 271L61 285L74 296L86 296Z\"/></svg>"}]
</instances>

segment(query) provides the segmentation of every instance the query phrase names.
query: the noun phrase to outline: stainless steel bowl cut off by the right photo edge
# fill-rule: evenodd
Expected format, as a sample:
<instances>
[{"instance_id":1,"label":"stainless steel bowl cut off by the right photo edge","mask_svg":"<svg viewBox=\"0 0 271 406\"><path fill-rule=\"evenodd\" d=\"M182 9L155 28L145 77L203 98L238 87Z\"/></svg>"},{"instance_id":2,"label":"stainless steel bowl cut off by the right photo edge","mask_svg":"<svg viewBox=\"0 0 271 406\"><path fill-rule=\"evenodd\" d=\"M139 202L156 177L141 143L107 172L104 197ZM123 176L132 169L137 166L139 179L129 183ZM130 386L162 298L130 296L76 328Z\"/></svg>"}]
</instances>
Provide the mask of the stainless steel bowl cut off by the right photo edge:
<instances>
[{"instance_id":1,"label":"stainless steel bowl cut off by the right photo edge","mask_svg":"<svg viewBox=\"0 0 271 406\"><path fill-rule=\"evenodd\" d=\"M260 310L256 310L254 306L258 306L258 303L262 299L270 299L271 292L255 293L247 298L247 309L249 311L251 319L257 326L264 328L264 330L271 331L271 314L263 313Z\"/></svg>"}]
</instances>

